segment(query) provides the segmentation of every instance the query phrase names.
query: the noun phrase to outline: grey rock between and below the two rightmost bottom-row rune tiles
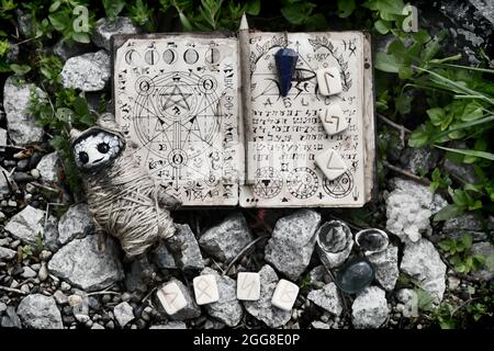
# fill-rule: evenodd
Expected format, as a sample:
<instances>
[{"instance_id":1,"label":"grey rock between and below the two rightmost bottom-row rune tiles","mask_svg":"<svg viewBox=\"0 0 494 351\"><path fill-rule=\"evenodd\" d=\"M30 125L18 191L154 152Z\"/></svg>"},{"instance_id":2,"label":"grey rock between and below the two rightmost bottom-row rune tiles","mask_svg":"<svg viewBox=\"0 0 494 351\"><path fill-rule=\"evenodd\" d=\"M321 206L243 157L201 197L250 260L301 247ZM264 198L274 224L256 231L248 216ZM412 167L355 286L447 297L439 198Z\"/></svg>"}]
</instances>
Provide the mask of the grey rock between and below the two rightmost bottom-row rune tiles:
<instances>
[{"instance_id":1,"label":"grey rock between and below the two rightmost bottom-row rune tiles","mask_svg":"<svg viewBox=\"0 0 494 351\"><path fill-rule=\"evenodd\" d=\"M278 275L269 264L263 265L259 274L260 298L258 301L244 302L245 309L270 328L284 326L290 320L291 313L271 305L272 294L279 281Z\"/></svg>"}]
</instances>

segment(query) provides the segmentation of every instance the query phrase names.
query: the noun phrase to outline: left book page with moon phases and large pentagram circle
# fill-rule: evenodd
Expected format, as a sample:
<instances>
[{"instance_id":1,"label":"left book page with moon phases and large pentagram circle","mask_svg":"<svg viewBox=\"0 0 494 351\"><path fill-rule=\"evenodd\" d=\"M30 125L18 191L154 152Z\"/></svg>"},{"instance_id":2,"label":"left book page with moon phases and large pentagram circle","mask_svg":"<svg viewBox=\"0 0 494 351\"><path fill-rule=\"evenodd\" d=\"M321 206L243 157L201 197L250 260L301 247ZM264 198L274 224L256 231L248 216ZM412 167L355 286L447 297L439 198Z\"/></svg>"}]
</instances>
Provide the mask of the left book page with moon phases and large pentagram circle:
<instances>
[{"instance_id":1,"label":"left book page with moon phases and large pentagram circle","mask_svg":"<svg viewBox=\"0 0 494 351\"><path fill-rule=\"evenodd\" d=\"M113 37L115 118L141 166L184 206L237 205L238 43L221 34Z\"/></svg>"}]
</instances>

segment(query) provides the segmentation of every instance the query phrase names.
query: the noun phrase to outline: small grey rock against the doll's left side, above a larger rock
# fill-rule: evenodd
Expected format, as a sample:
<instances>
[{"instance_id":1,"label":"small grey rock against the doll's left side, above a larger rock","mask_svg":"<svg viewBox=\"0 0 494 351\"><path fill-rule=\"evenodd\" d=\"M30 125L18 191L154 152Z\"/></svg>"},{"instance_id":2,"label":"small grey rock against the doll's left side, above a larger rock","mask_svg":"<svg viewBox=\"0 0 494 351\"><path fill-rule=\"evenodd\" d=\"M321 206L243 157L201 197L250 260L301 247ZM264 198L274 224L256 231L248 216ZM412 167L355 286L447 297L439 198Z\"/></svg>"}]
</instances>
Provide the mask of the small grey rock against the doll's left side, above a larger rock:
<instances>
[{"instance_id":1,"label":"small grey rock against the doll's left side, above a larger rock","mask_svg":"<svg viewBox=\"0 0 494 351\"><path fill-rule=\"evenodd\" d=\"M70 206L58 222L58 242L65 245L94 230L94 218L85 203Z\"/></svg>"}]
</instances>

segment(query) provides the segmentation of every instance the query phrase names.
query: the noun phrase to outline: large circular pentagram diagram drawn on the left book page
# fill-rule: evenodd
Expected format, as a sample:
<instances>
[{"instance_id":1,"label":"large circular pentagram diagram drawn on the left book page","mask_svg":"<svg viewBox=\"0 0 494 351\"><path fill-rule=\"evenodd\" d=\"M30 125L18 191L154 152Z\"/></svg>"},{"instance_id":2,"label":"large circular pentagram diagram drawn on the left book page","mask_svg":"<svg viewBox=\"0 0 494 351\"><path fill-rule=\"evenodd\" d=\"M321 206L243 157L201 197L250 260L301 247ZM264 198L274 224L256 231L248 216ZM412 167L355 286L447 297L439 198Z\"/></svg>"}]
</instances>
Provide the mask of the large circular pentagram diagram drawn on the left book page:
<instances>
[{"instance_id":1,"label":"large circular pentagram diagram drawn on the left book page","mask_svg":"<svg viewBox=\"0 0 494 351\"><path fill-rule=\"evenodd\" d=\"M201 91L216 81L204 78L190 76L188 71L139 77L134 84L136 98L131 115L143 148L167 160L166 165L187 169L203 179L206 173L192 160L221 146L223 118L216 89L207 94ZM170 150L182 152L169 157Z\"/></svg>"}]
</instances>

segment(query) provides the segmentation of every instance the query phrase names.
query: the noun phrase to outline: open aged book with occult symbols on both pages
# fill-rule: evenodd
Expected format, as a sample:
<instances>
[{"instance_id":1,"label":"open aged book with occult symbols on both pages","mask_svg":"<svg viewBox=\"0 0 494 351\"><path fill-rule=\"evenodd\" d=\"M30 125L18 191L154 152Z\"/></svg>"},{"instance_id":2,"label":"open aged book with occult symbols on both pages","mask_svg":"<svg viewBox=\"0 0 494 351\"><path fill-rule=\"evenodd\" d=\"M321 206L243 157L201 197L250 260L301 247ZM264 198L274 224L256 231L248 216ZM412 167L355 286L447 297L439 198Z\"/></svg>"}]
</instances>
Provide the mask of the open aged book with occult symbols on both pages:
<instances>
[{"instance_id":1,"label":"open aged book with occult symbols on both pages","mask_svg":"<svg viewBox=\"0 0 494 351\"><path fill-rule=\"evenodd\" d=\"M285 97L280 48L297 53ZM316 76L328 67L341 91L323 95ZM371 197L372 68L362 32L115 35L113 98L142 167L184 206L359 207ZM346 128L329 135L319 115L334 104ZM345 163L333 180L315 162L328 149Z\"/></svg>"}]
</instances>

